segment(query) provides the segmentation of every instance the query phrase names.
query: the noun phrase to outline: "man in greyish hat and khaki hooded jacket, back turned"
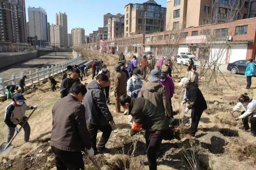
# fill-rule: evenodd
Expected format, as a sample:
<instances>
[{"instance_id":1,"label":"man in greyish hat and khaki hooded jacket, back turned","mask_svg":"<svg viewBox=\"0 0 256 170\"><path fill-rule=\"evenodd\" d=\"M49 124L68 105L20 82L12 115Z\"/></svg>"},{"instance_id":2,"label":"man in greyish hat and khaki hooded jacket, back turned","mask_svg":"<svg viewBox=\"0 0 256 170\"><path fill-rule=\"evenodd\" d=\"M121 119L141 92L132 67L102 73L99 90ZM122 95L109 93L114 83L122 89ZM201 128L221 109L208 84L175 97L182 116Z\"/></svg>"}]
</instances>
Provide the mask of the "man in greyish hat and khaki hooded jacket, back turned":
<instances>
[{"instance_id":1,"label":"man in greyish hat and khaki hooded jacket, back turned","mask_svg":"<svg viewBox=\"0 0 256 170\"><path fill-rule=\"evenodd\" d=\"M152 102L157 108L166 112L167 117L172 117L170 101L167 96L166 88L159 84L161 72L159 70L151 70L148 82L142 86L138 98L145 98Z\"/></svg>"}]
</instances>

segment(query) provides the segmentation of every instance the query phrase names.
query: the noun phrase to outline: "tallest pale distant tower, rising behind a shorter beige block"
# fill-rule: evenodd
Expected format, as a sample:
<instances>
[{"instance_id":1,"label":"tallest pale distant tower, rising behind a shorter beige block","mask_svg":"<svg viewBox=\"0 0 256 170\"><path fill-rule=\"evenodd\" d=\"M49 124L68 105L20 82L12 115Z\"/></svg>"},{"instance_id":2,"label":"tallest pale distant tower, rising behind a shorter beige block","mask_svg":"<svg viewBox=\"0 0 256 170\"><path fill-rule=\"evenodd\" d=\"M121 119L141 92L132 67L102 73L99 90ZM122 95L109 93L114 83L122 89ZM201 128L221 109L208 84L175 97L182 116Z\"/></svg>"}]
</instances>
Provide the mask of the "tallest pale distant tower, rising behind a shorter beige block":
<instances>
[{"instance_id":1,"label":"tallest pale distant tower, rising behind a shorter beige block","mask_svg":"<svg viewBox=\"0 0 256 170\"><path fill-rule=\"evenodd\" d=\"M63 46L68 45L68 17L66 13L56 13L56 25L62 26Z\"/></svg>"}]
</instances>

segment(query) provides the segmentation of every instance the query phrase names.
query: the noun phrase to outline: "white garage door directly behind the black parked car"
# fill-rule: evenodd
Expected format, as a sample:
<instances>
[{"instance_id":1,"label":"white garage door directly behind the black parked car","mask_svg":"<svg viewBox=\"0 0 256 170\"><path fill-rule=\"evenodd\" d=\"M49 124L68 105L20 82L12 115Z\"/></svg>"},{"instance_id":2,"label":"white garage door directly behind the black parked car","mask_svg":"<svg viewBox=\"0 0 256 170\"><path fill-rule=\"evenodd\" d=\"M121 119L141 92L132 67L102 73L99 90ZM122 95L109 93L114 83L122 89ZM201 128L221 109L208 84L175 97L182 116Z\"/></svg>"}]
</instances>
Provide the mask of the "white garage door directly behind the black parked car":
<instances>
[{"instance_id":1,"label":"white garage door directly behind the black parked car","mask_svg":"<svg viewBox=\"0 0 256 170\"><path fill-rule=\"evenodd\" d=\"M232 45L230 48L229 62L234 63L238 60L245 60L247 53L247 44Z\"/></svg>"}]
</instances>

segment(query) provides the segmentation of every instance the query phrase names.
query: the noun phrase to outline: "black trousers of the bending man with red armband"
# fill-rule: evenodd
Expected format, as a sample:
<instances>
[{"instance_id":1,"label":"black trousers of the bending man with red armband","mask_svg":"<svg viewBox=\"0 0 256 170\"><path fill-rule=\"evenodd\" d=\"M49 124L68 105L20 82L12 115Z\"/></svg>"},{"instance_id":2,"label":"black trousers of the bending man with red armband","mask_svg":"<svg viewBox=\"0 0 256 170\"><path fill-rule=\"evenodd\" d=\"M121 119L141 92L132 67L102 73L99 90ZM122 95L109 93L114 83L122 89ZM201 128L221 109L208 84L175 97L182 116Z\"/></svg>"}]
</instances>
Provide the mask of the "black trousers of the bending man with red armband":
<instances>
[{"instance_id":1,"label":"black trousers of the bending man with red armband","mask_svg":"<svg viewBox=\"0 0 256 170\"><path fill-rule=\"evenodd\" d=\"M150 133L150 131L144 131L144 137L146 140L146 153L148 157L149 170L156 170L156 152L160 148L163 140L162 133Z\"/></svg>"}]
</instances>

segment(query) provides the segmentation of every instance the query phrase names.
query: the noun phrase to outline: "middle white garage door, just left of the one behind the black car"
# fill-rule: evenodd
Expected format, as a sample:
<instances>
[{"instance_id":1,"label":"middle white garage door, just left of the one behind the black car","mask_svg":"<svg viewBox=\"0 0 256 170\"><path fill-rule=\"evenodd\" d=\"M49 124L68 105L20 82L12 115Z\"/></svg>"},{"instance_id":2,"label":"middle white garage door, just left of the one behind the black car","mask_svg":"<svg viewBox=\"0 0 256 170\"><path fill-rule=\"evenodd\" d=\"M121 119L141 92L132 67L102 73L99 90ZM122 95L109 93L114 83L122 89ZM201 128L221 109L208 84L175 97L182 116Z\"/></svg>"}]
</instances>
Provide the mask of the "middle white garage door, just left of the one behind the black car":
<instances>
[{"instance_id":1,"label":"middle white garage door, just left of the one behind the black car","mask_svg":"<svg viewBox=\"0 0 256 170\"><path fill-rule=\"evenodd\" d=\"M212 47L210 54L210 63L216 62L219 64L225 64L226 62L226 45L215 45Z\"/></svg>"}]
</instances>

